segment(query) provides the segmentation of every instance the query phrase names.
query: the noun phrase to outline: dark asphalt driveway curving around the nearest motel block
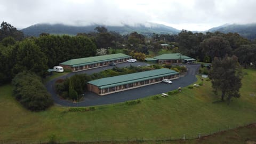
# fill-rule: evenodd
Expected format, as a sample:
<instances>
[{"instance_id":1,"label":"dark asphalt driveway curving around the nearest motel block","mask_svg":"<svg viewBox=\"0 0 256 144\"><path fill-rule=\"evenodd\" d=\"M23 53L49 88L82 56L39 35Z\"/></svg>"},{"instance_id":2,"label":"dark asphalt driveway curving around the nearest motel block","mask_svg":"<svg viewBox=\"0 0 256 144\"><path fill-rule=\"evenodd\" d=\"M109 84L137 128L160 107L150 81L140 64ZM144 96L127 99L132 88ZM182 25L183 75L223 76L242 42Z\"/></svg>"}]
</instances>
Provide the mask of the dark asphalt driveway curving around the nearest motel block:
<instances>
[{"instance_id":1,"label":"dark asphalt driveway curving around the nearest motel block","mask_svg":"<svg viewBox=\"0 0 256 144\"><path fill-rule=\"evenodd\" d=\"M116 66L117 67L125 67L125 66L146 66L147 63L145 62L136 62L136 63L119 63ZM111 66L106 66L106 67L100 67L100 68L95 68L95 69L89 69L89 70L84 70L84 71L79 71L76 73L69 73L65 76L61 76L55 79L52 79L52 81L49 81L46 83L46 89L47 91L52 95L52 98L54 102L57 105L61 106L69 106L69 107L76 107L76 106L97 106L97 105L106 105L110 103L117 103L117 102L124 102L127 100L134 100L134 99L139 99L139 98L145 98L149 95L155 95L159 93L164 93L168 92L171 90L178 89L178 87L185 87L190 85L191 83L194 83L197 81L196 74L197 71L200 67L200 65L186 65L188 68L188 72L184 77L180 77L179 79L174 79L172 82L173 84L165 84L165 83L158 83L158 84L153 84L153 85L148 85L148 86L143 86L139 87L137 89L132 89L132 90L127 90L127 91L122 91L122 92L117 92L117 93L112 93L104 96L100 96L98 94L92 93L92 92L86 92L85 96L83 98L83 101L78 102L78 103L73 103L67 100L60 99L58 95L55 93L54 90L54 84L58 79L64 79L66 77L73 76L75 74L82 74L86 73L88 75L91 75L93 73L99 73L102 70L105 69L110 69L113 68Z\"/></svg>"}]
</instances>

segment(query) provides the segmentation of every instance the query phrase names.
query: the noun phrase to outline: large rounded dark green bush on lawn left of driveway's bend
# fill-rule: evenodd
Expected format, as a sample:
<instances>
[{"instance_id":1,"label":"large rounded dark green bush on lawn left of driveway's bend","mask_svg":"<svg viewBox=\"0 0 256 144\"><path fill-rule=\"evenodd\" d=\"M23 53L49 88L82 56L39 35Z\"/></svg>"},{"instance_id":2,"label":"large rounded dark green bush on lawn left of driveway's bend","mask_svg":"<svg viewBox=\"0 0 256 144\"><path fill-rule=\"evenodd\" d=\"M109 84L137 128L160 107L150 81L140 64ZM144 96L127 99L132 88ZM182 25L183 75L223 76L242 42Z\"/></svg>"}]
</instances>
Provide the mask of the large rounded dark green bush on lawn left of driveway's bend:
<instances>
[{"instance_id":1,"label":"large rounded dark green bush on lawn left of driveway's bend","mask_svg":"<svg viewBox=\"0 0 256 144\"><path fill-rule=\"evenodd\" d=\"M53 105L51 95L37 75L24 71L13 78L12 84L15 98L27 109L40 111Z\"/></svg>"}]
</instances>

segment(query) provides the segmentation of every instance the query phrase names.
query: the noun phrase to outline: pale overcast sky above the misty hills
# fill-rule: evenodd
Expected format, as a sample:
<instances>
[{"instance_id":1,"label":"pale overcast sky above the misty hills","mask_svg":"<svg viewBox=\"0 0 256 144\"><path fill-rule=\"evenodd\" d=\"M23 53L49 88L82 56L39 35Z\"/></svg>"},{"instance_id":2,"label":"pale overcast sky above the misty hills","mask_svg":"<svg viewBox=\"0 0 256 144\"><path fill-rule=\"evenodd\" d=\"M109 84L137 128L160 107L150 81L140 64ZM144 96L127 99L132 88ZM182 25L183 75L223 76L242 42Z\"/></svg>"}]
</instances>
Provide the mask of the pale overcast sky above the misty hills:
<instances>
[{"instance_id":1,"label":"pale overcast sky above the misty hills","mask_svg":"<svg viewBox=\"0 0 256 144\"><path fill-rule=\"evenodd\" d=\"M0 20L17 28L37 23L121 26L156 22L207 30L256 22L256 0L1 0Z\"/></svg>"}]
</instances>

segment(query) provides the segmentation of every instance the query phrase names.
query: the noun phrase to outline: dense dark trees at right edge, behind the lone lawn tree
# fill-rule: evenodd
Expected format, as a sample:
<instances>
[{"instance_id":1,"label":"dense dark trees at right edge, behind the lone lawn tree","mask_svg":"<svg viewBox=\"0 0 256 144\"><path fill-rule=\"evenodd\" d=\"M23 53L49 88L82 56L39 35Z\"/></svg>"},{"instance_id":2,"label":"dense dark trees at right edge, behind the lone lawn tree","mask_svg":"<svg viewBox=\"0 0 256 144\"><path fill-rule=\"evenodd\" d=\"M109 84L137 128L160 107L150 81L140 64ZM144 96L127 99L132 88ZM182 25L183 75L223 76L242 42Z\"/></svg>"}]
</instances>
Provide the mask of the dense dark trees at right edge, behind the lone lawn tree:
<instances>
[{"instance_id":1,"label":"dense dark trees at right edge, behind the lone lawn tree","mask_svg":"<svg viewBox=\"0 0 256 144\"><path fill-rule=\"evenodd\" d=\"M226 55L237 55L239 62L245 59L247 55L254 55L254 58L256 57L255 43L239 36L237 33L223 34L215 32L193 34L191 31L182 30L179 33L177 42L180 53L203 62L211 62L214 57L224 58ZM238 55L236 52L241 49L247 49L247 52L242 54L243 56ZM243 61L241 63L243 66L248 66L251 62L255 66L256 63L252 57L246 57L246 60Z\"/></svg>"}]
</instances>

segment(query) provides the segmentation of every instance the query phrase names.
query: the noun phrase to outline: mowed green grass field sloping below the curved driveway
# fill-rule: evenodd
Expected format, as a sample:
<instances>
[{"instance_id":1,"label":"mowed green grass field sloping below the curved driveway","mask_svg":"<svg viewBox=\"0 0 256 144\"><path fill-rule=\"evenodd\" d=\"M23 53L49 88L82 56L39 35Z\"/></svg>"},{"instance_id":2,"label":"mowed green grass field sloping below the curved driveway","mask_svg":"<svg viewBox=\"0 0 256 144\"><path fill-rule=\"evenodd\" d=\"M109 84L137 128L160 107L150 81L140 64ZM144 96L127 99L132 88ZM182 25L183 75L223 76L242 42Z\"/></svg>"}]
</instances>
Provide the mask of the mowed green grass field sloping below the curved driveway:
<instances>
[{"instance_id":1,"label":"mowed green grass field sloping below the curved driveway","mask_svg":"<svg viewBox=\"0 0 256 144\"><path fill-rule=\"evenodd\" d=\"M11 85L1 86L0 141L39 143L51 135L60 142L179 139L184 134L187 139L256 123L256 70L244 73L241 98L230 105L218 102L211 82L203 81L203 86L185 87L167 98L148 97L133 106L117 103L87 112L53 106L35 113L15 101Z\"/></svg>"}]
</instances>

